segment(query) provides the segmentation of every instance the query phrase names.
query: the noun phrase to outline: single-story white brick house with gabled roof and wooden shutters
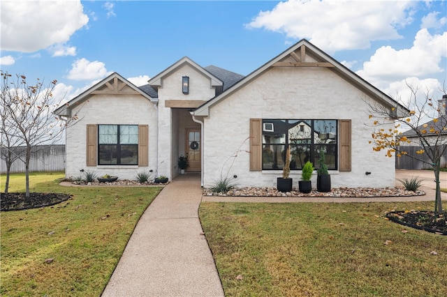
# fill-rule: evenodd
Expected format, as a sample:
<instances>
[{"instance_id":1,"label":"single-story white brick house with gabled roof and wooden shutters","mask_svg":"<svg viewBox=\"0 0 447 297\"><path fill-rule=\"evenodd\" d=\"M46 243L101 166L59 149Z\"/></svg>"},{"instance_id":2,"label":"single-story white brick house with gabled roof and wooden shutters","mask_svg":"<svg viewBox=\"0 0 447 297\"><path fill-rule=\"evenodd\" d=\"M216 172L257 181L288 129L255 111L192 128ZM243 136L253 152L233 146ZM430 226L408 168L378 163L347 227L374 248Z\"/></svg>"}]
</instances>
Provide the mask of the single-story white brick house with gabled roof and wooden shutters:
<instances>
[{"instance_id":1,"label":"single-story white brick house with gabled roof and wooden shutters","mask_svg":"<svg viewBox=\"0 0 447 297\"><path fill-rule=\"evenodd\" d=\"M172 179L187 155L187 172L200 173L204 187L225 176L240 187L275 187L290 145L296 188L303 162L317 165L320 150L334 187L394 186L394 160L368 143L368 104L397 105L301 40L246 77L188 57L145 86L113 73L55 113L79 118L66 132L66 176L85 169Z\"/></svg>"}]
</instances>

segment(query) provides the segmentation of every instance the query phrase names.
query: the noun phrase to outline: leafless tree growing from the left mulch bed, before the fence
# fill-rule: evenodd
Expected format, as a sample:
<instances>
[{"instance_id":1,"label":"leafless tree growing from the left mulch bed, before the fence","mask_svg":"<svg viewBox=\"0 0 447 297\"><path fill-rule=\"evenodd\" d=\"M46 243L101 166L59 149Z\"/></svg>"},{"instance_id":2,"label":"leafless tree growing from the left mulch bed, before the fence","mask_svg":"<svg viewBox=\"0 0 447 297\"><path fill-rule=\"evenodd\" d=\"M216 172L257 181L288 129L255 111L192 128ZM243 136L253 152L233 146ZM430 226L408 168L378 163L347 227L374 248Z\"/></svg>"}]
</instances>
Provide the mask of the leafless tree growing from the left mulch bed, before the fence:
<instances>
[{"instance_id":1,"label":"leafless tree growing from the left mulch bed, before the fence","mask_svg":"<svg viewBox=\"0 0 447 297\"><path fill-rule=\"evenodd\" d=\"M4 134L2 148L14 155L13 144L24 146L24 153L15 156L24 162L26 195L29 197L31 149L36 151L41 144L57 143L72 119L61 121L52 114L64 99L53 98L56 80L44 86L39 79L36 84L28 84L24 75L16 75L17 79L13 82L10 82L11 75L8 73L1 71L1 77L1 116L2 123L5 123L1 131Z\"/></svg>"}]
</instances>

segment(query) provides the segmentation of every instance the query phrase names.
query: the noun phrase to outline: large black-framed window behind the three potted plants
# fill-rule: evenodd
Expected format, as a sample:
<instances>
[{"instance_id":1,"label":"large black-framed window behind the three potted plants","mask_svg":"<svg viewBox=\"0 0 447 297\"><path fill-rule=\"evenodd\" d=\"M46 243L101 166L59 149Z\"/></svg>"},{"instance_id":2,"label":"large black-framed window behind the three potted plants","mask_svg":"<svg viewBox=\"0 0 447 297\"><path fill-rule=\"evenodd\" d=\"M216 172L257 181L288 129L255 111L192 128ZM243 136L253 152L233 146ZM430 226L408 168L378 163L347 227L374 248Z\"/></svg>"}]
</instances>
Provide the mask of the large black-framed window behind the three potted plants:
<instances>
[{"instance_id":1,"label":"large black-framed window behind the three potted plants","mask_svg":"<svg viewBox=\"0 0 447 297\"><path fill-rule=\"evenodd\" d=\"M291 147L291 170L307 161L318 168L324 151L328 169L337 169L337 120L263 120L263 170L284 167L286 148Z\"/></svg>"}]
</instances>

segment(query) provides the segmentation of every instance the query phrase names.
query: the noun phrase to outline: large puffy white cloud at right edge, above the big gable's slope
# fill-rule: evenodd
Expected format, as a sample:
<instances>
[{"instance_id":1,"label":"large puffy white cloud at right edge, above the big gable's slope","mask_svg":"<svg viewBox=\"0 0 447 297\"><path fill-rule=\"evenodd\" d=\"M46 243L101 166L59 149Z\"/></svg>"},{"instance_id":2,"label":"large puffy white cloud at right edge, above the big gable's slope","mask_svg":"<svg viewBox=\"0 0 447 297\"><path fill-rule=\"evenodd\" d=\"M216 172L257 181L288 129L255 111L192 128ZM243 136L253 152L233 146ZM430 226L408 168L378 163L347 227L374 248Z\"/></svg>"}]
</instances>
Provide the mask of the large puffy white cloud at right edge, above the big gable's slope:
<instances>
[{"instance_id":1,"label":"large puffy white cloud at right edge, above the big gable's slope","mask_svg":"<svg viewBox=\"0 0 447 297\"><path fill-rule=\"evenodd\" d=\"M376 85L388 86L390 82L406 77L427 77L443 73L446 69L439 66L441 59L447 56L447 32L442 35L430 35L427 29L416 33L413 47L395 50L390 46L380 47L369 61L363 63L363 69L357 74Z\"/></svg>"}]
</instances>

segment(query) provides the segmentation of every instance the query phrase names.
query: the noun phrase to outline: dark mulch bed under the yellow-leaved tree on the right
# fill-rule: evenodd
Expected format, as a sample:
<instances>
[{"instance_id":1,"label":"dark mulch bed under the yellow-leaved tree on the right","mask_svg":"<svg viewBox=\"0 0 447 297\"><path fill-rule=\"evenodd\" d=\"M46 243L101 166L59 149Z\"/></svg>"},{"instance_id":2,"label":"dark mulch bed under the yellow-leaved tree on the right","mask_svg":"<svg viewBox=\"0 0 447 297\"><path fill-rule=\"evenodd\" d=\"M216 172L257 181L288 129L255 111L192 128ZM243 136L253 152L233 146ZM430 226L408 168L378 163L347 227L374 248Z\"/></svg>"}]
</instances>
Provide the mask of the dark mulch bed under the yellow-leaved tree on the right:
<instances>
[{"instance_id":1,"label":"dark mulch bed under the yellow-leaved tree on the right","mask_svg":"<svg viewBox=\"0 0 447 297\"><path fill-rule=\"evenodd\" d=\"M390 211L386 217L407 227L447 235L445 218L435 222L433 211Z\"/></svg>"}]
</instances>

